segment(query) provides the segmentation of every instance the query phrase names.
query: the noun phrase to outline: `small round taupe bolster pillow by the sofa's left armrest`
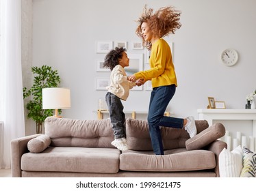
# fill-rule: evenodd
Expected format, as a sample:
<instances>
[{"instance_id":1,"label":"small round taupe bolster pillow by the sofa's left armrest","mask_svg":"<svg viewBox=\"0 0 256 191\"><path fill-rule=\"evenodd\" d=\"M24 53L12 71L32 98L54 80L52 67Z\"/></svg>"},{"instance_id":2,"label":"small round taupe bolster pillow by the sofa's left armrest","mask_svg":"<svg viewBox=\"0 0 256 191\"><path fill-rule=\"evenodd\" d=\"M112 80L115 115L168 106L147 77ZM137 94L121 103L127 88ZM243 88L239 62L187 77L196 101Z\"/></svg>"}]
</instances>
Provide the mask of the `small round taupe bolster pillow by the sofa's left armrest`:
<instances>
[{"instance_id":1,"label":"small round taupe bolster pillow by the sofa's left armrest","mask_svg":"<svg viewBox=\"0 0 256 191\"><path fill-rule=\"evenodd\" d=\"M31 153L40 153L44 151L49 145L51 144L51 138L50 136L46 134L41 134L40 136L36 138L32 138L28 143L27 143L27 149Z\"/></svg>"}]
</instances>

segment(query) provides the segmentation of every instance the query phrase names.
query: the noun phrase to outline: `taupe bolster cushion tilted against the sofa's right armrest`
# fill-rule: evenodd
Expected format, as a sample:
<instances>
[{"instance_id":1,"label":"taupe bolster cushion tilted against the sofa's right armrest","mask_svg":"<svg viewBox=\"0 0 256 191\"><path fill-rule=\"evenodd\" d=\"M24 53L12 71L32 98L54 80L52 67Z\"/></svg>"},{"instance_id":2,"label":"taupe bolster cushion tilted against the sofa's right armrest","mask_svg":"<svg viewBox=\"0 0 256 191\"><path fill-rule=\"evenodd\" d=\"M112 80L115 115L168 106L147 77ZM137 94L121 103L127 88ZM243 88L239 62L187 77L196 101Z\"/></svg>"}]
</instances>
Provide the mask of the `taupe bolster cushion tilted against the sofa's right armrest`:
<instances>
[{"instance_id":1,"label":"taupe bolster cushion tilted against the sofa's right armrest","mask_svg":"<svg viewBox=\"0 0 256 191\"><path fill-rule=\"evenodd\" d=\"M185 147L188 150L201 149L224 135L225 127L222 123L215 123L209 128L196 134L196 136L185 141Z\"/></svg>"}]
</instances>

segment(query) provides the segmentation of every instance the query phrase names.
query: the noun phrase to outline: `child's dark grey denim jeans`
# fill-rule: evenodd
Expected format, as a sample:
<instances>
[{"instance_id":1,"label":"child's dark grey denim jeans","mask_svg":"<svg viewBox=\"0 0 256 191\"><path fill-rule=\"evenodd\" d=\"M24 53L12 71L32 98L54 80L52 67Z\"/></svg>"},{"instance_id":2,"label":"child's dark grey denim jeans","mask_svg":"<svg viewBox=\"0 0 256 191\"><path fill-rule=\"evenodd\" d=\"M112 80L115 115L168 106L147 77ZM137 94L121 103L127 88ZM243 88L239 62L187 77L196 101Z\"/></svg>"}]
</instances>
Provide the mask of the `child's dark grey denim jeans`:
<instances>
[{"instance_id":1,"label":"child's dark grey denim jeans","mask_svg":"<svg viewBox=\"0 0 256 191\"><path fill-rule=\"evenodd\" d=\"M116 95L107 92L105 100L110 112L110 121L114 131L114 138L125 138L125 113L123 113L123 104Z\"/></svg>"}]
</instances>

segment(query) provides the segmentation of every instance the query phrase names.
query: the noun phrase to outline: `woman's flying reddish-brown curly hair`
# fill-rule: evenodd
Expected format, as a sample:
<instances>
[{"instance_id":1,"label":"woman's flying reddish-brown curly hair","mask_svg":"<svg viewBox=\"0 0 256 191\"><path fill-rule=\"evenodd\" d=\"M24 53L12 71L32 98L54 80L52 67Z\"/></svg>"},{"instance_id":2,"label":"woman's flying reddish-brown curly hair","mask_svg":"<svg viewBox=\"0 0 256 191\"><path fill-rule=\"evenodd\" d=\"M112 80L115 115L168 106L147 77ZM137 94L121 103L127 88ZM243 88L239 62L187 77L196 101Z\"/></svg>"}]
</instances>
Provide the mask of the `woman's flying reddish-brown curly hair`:
<instances>
[{"instance_id":1,"label":"woman's flying reddish-brown curly hair","mask_svg":"<svg viewBox=\"0 0 256 191\"><path fill-rule=\"evenodd\" d=\"M136 34L142 38L143 46L151 50L151 43L146 42L142 36L142 23L148 24L154 36L162 38L170 33L174 34L181 27L181 23L179 23L180 16L181 12L175 10L172 6L160 8L153 13L153 9L148 9L145 5L144 12L138 20L139 25L136 29Z\"/></svg>"}]
</instances>

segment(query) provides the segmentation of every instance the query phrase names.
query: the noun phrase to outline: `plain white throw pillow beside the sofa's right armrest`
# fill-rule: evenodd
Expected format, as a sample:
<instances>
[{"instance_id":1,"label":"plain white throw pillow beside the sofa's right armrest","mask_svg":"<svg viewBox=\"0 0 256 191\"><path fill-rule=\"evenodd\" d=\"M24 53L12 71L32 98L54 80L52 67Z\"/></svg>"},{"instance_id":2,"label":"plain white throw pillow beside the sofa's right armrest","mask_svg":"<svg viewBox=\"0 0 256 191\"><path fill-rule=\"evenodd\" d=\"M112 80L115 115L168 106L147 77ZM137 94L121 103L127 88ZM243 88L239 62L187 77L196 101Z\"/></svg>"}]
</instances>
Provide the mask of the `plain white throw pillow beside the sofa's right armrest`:
<instances>
[{"instance_id":1,"label":"plain white throw pillow beside the sofa's right armrest","mask_svg":"<svg viewBox=\"0 0 256 191\"><path fill-rule=\"evenodd\" d=\"M243 151L241 145L229 151L224 148L219 155L220 177L240 177Z\"/></svg>"}]
</instances>

